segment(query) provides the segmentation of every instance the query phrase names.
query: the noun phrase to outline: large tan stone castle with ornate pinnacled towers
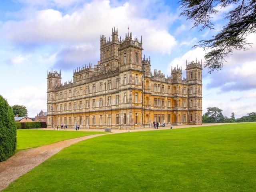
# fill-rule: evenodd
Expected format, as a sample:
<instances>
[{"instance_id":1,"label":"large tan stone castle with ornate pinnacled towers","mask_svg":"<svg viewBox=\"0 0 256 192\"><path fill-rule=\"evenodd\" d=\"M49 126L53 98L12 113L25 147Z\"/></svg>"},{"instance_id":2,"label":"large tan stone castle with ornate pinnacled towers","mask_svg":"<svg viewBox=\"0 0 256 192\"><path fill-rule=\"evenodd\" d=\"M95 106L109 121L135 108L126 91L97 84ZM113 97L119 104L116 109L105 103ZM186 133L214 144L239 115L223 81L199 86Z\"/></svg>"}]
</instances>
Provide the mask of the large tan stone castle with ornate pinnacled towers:
<instances>
[{"instance_id":1,"label":"large tan stone castle with ornate pinnacled towers","mask_svg":"<svg viewBox=\"0 0 256 192\"><path fill-rule=\"evenodd\" d=\"M80 128L140 129L153 121L168 125L202 124L202 62L172 68L171 76L154 70L142 56L142 37L132 33L112 39L100 36L100 61L61 82L61 71L48 71L48 128L80 124Z\"/></svg>"}]
</instances>

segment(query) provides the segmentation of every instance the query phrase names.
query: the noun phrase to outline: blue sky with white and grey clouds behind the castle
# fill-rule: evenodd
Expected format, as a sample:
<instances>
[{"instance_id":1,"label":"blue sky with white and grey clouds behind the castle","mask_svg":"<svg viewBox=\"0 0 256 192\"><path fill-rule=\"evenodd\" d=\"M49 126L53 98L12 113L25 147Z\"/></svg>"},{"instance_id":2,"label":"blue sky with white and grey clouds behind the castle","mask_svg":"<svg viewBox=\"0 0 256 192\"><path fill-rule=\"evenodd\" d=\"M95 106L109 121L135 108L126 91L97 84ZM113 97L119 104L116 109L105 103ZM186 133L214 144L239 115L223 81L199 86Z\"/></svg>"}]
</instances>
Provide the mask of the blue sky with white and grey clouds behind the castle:
<instances>
[{"instance_id":1,"label":"blue sky with white and grey clouds behind the castle","mask_svg":"<svg viewBox=\"0 0 256 192\"><path fill-rule=\"evenodd\" d=\"M213 16L216 30L203 31L179 17L179 6L178 0L1 0L0 94L10 105L26 106L29 117L46 111L47 70L61 70L66 82L73 69L97 64L100 35L108 38L114 27L121 38L128 26L133 38L142 36L152 71L170 76L178 65L186 76L186 60L204 62L204 50L192 46L215 35L232 6ZM234 51L221 71L204 68L203 114L207 107L236 118L256 112L256 35L247 38L252 48Z\"/></svg>"}]
</instances>

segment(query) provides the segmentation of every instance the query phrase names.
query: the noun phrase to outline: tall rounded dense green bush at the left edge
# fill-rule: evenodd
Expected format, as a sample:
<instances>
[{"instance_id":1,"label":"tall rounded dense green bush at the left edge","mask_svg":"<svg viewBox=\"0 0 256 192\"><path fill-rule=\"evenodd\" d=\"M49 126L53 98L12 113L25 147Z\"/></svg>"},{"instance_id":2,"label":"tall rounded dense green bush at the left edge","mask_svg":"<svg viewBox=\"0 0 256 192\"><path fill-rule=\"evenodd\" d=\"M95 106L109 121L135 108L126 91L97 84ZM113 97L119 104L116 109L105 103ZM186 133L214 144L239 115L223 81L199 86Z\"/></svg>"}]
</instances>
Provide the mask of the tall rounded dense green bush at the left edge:
<instances>
[{"instance_id":1,"label":"tall rounded dense green bush at the left edge","mask_svg":"<svg viewBox=\"0 0 256 192\"><path fill-rule=\"evenodd\" d=\"M14 114L8 102L0 95L0 162L15 153L16 144Z\"/></svg>"}]
</instances>

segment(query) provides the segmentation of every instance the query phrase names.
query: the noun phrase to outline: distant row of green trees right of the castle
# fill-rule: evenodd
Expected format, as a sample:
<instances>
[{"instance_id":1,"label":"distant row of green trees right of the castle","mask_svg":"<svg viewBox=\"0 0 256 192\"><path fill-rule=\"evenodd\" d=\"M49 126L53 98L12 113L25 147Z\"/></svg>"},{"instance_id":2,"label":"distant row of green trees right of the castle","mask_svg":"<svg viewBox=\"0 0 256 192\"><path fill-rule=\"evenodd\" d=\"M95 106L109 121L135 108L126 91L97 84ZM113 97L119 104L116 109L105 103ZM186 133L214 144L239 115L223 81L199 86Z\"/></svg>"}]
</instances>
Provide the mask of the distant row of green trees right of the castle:
<instances>
[{"instance_id":1,"label":"distant row of green trees right of the castle","mask_svg":"<svg viewBox=\"0 0 256 192\"><path fill-rule=\"evenodd\" d=\"M234 112L230 118L223 116L222 109L218 107L209 107L207 112L202 116L203 123L233 123L233 122L256 122L256 112L248 113L241 118L235 118Z\"/></svg>"}]
</instances>

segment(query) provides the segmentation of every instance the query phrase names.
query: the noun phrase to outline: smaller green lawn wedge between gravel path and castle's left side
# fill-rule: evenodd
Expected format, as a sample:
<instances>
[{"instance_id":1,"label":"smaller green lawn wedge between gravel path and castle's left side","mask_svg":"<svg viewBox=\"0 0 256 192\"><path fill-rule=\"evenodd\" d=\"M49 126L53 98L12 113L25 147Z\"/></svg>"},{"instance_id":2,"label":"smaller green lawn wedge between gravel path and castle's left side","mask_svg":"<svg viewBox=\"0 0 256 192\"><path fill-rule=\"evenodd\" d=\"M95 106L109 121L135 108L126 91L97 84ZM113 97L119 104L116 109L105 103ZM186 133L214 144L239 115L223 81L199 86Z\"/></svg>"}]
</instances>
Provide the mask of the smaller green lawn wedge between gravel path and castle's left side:
<instances>
[{"instance_id":1,"label":"smaller green lawn wedge between gravel path and castle's left side","mask_svg":"<svg viewBox=\"0 0 256 192\"><path fill-rule=\"evenodd\" d=\"M105 132L19 129L17 130L17 150L36 148L72 138L104 133Z\"/></svg>"}]
</instances>

